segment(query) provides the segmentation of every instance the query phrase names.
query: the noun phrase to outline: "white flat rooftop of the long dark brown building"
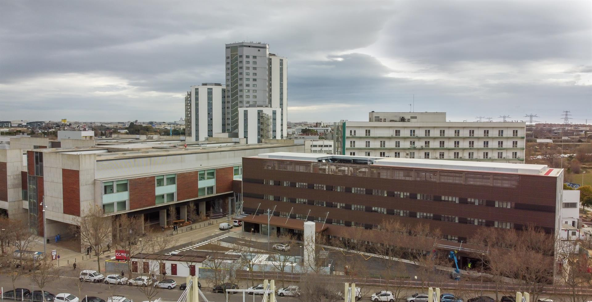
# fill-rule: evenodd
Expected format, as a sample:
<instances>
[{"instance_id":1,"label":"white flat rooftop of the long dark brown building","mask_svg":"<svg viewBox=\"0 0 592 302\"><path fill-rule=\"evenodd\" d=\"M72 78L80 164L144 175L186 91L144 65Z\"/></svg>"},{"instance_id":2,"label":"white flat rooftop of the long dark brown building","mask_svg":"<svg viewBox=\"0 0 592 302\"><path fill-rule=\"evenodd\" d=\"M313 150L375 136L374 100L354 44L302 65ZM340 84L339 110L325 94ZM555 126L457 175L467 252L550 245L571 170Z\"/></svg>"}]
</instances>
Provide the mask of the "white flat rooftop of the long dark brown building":
<instances>
[{"instance_id":1,"label":"white flat rooftop of the long dark brown building","mask_svg":"<svg viewBox=\"0 0 592 302\"><path fill-rule=\"evenodd\" d=\"M459 171L500 172L528 175L558 176L562 169L526 163L469 162L445 159L380 158L373 156L323 155L316 153L274 152L258 158L300 160L306 162L349 163L361 165L397 166L403 168L448 169Z\"/></svg>"}]
</instances>

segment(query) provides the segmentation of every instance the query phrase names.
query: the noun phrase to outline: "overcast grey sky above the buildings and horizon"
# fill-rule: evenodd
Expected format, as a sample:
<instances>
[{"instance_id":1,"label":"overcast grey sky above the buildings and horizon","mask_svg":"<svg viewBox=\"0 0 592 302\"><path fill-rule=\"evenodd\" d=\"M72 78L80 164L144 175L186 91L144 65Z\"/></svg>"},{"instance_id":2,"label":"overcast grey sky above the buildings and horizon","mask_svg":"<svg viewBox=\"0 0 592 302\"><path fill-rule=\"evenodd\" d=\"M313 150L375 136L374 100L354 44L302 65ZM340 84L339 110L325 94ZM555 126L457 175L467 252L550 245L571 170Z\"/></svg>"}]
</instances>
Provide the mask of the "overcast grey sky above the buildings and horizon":
<instances>
[{"instance_id":1,"label":"overcast grey sky above the buildings and horizon","mask_svg":"<svg viewBox=\"0 0 592 302\"><path fill-rule=\"evenodd\" d=\"M288 57L288 120L592 119L592 1L0 1L0 120L179 120L224 44ZM583 120L574 120L581 122ZM592 123L592 120L588 121Z\"/></svg>"}]
</instances>

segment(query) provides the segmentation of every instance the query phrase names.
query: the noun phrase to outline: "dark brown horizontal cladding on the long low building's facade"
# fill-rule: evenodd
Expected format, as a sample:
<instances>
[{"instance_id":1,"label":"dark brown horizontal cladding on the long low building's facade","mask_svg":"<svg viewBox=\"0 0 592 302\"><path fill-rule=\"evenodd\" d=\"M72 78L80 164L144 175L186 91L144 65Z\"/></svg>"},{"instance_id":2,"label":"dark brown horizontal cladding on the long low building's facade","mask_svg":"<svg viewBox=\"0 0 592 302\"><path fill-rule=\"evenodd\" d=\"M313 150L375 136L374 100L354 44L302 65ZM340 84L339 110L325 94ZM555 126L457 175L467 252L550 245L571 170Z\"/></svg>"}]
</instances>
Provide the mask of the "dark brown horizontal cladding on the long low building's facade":
<instances>
[{"instance_id":1,"label":"dark brown horizontal cladding on the long low building's facade","mask_svg":"<svg viewBox=\"0 0 592 302\"><path fill-rule=\"evenodd\" d=\"M403 179L374 178L368 176L322 174L316 172L279 171L265 169L268 161L294 162L294 160L243 158L243 193L244 208L273 208L276 212L302 214L306 216L324 217L330 220L355 221L359 223L379 224L385 219L399 219L405 224L429 223L438 228L443 234L456 237L471 237L480 228L474 224L453 223L440 220L417 219L416 217L393 216L392 214L369 213L319 205L288 203L284 201L265 200L248 197L247 193L275 195L291 198L306 198L307 200L326 201L330 203L345 203L367 205L397 210L433 213L488 221L503 221L514 224L532 224L553 230L555 226L556 181L553 176L500 174L499 172L453 171L461 174L480 175L513 175L517 178L517 185L513 187L493 187L491 185L453 184L449 182L417 181ZM333 164L343 166L360 166L351 164ZM444 169L399 168L392 166L368 165L368 168L396 169L397 171L430 171L450 172ZM445 201L428 201L391 196L370 194L355 194L351 192L337 192L323 189L285 187L282 185L266 185L247 182L246 179L271 179L273 181L305 182L307 184L323 184L343 187L358 187L366 189L381 189L386 191L409 192L411 194L431 194L452 196L459 198L478 198L482 200L510 201L523 207L501 208L484 205L449 203ZM292 210L293 208L293 210ZM546 211L530 210L545 208ZM325 232L333 236L347 237L349 227L330 225Z\"/></svg>"}]
</instances>

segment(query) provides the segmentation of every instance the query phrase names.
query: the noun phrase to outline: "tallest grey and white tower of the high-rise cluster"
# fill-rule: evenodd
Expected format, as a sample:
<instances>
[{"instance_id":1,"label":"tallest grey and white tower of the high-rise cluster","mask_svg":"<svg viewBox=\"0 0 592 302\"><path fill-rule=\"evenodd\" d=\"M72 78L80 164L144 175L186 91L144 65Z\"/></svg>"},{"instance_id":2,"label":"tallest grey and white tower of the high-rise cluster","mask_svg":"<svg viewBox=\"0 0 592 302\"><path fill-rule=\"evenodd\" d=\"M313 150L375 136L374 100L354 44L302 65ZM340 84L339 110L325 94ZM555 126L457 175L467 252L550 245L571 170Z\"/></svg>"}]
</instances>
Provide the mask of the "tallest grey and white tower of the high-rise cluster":
<instances>
[{"instance_id":1,"label":"tallest grey and white tower of the high-rise cluster","mask_svg":"<svg viewBox=\"0 0 592 302\"><path fill-rule=\"evenodd\" d=\"M287 136L288 59L269 53L269 45L240 42L226 44L226 128L237 133L243 107L279 108L281 124L277 138Z\"/></svg>"}]
</instances>

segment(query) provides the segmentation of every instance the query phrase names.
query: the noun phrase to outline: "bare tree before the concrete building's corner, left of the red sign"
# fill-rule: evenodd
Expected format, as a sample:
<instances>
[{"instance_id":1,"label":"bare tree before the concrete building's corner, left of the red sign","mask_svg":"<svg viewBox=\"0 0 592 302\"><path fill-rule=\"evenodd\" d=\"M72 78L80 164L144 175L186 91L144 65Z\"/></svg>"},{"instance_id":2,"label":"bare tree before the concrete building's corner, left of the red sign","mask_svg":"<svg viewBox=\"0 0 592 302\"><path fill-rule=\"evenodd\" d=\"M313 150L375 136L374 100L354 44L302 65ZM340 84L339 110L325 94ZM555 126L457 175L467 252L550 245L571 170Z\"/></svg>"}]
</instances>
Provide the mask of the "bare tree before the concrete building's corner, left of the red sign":
<instances>
[{"instance_id":1,"label":"bare tree before the concrete building's corner, left of the red sign","mask_svg":"<svg viewBox=\"0 0 592 302\"><path fill-rule=\"evenodd\" d=\"M105 217L103 209L95 206L82 213L80 227L73 226L72 232L80 234L81 244L89 245L95 250L96 268L101 271L101 256L104 247L111 244L111 217Z\"/></svg>"}]
</instances>

